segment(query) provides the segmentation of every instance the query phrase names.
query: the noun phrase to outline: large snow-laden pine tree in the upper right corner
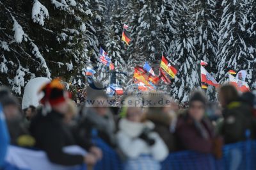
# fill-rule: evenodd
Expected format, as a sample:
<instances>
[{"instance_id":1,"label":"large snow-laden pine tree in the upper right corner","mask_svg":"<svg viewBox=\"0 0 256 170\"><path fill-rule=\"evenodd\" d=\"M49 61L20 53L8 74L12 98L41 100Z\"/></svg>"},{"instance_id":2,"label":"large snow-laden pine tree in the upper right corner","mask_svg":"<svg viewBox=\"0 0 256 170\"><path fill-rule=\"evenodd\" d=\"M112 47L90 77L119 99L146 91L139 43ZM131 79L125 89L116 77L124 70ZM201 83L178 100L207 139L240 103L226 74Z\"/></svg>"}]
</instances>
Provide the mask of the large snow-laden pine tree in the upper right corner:
<instances>
[{"instance_id":1,"label":"large snow-laden pine tree in the upper right corner","mask_svg":"<svg viewBox=\"0 0 256 170\"><path fill-rule=\"evenodd\" d=\"M248 0L222 1L223 13L218 40L218 77L228 70L246 70L250 86L255 82L255 43L252 41L252 3ZM255 30L255 28L254 28ZM253 74L254 72L254 74Z\"/></svg>"}]
</instances>

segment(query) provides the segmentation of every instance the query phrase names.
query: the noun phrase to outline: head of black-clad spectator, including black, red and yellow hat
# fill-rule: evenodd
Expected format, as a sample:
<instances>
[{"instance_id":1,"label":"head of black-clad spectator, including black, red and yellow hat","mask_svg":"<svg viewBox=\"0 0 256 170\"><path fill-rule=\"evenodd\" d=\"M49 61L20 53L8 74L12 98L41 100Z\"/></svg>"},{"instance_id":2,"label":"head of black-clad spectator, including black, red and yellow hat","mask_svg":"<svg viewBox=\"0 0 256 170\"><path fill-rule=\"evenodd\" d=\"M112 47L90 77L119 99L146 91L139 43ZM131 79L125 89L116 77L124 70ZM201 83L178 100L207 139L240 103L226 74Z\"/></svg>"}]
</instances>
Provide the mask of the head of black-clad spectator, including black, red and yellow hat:
<instances>
[{"instance_id":1,"label":"head of black-clad spectator, including black, red and yellow hat","mask_svg":"<svg viewBox=\"0 0 256 170\"><path fill-rule=\"evenodd\" d=\"M68 109L68 91L65 91L63 84L58 79L53 79L45 84L40 92L44 97L40 101L45 107L51 107L52 110L65 114Z\"/></svg>"}]
</instances>

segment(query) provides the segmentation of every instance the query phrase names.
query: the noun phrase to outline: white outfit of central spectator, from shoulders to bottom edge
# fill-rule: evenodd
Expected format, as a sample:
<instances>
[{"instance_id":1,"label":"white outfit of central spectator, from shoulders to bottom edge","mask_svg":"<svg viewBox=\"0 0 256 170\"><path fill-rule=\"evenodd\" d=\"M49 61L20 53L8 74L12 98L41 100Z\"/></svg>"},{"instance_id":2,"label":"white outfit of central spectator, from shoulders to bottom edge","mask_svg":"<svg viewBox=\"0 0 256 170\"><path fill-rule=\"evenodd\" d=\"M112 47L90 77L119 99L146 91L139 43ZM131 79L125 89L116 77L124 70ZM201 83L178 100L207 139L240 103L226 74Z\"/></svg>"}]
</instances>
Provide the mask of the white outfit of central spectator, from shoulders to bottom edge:
<instances>
[{"instance_id":1,"label":"white outfit of central spectator, from shoulders to bottom edge","mask_svg":"<svg viewBox=\"0 0 256 170\"><path fill-rule=\"evenodd\" d=\"M127 158L125 169L160 169L160 161L168 156L168 148L161 137L156 132L149 132L148 136L154 139L155 143L150 146L140 138L145 128L154 129L154 124L150 121L136 123L127 119L119 122L120 130L116 134L117 144L120 151ZM150 157L148 157L150 155Z\"/></svg>"}]
</instances>

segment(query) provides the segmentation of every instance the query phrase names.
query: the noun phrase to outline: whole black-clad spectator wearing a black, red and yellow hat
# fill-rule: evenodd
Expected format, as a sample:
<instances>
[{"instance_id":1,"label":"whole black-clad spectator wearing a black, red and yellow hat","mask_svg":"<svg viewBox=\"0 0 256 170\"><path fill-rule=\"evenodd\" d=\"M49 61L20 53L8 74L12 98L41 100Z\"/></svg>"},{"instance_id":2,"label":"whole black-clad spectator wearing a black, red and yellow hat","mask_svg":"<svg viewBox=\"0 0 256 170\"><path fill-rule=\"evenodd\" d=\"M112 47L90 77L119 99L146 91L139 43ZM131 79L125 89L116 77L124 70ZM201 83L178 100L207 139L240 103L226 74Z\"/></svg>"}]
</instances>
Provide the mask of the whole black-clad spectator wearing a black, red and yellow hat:
<instances>
[{"instance_id":1,"label":"whole black-clad spectator wearing a black, red and yellow hat","mask_svg":"<svg viewBox=\"0 0 256 170\"><path fill-rule=\"evenodd\" d=\"M72 131L64 123L68 95L63 85L58 79L54 79L42 87L42 93L44 97L40 102L44 107L38 111L30 125L31 134L36 139L36 148L44 150L49 160L55 164L75 166L85 162L88 166L93 166L97 158L92 153L83 156L63 151L65 146L78 144L86 150L90 150L92 146L88 143L77 143Z\"/></svg>"}]
</instances>

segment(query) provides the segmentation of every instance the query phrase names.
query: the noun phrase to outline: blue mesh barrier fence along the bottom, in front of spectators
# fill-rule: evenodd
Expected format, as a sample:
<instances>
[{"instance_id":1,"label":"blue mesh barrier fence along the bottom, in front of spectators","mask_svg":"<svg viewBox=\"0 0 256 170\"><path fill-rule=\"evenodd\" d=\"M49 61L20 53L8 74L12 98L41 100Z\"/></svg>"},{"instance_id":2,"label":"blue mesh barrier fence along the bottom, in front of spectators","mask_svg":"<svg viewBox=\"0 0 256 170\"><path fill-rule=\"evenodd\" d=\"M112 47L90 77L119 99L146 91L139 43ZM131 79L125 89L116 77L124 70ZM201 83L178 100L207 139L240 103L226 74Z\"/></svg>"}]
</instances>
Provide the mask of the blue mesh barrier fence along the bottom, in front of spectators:
<instances>
[{"instance_id":1,"label":"blue mesh barrier fence along the bottom, in front of spectators","mask_svg":"<svg viewBox=\"0 0 256 170\"><path fill-rule=\"evenodd\" d=\"M101 139L94 143L102 149L104 157L95 166L95 170L122 169L118 154ZM256 141L227 144L223 147L223 157L216 160L211 154L193 151L179 151L170 155L161 163L162 170L247 170L256 169ZM150 167L148 168L150 169Z\"/></svg>"}]
</instances>

